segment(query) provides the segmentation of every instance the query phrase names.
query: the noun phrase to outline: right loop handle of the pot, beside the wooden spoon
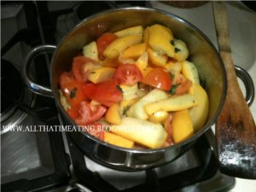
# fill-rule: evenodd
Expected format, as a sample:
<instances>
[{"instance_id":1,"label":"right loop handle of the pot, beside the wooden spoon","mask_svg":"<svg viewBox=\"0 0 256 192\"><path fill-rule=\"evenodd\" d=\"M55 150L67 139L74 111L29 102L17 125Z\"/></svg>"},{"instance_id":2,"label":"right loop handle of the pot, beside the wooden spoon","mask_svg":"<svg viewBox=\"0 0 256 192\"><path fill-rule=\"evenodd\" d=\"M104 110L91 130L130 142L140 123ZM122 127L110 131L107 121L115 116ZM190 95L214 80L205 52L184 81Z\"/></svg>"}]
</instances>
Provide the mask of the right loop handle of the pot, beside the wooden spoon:
<instances>
[{"instance_id":1,"label":"right loop handle of the pot, beside the wooden spoon","mask_svg":"<svg viewBox=\"0 0 256 192\"><path fill-rule=\"evenodd\" d=\"M251 106L253 104L254 100L254 85L253 85L253 79L251 78L250 74L247 73L246 70L244 70L241 67L235 66L236 70L236 76L241 79L242 83L245 86L246 90L246 102L248 106Z\"/></svg>"}]
</instances>

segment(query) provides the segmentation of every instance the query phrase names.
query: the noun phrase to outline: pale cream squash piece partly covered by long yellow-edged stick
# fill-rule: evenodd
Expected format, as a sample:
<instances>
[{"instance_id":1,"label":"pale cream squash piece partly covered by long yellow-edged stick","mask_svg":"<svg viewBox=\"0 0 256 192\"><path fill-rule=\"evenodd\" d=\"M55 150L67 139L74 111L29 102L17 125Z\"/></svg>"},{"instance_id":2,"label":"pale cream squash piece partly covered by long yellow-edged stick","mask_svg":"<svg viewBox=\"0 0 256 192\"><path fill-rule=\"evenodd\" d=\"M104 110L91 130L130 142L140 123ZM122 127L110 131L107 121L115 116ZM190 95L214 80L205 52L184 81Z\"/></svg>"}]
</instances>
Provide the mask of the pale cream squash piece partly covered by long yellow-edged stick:
<instances>
[{"instance_id":1,"label":"pale cream squash piece partly covered by long yellow-edged stick","mask_svg":"<svg viewBox=\"0 0 256 192\"><path fill-rule=\"evenodd\" d=\"M166 91L154 89L150 91L146 96L143 96L138 102L133 104L131 108L128 109L126 114L128 116L135 117L137 119L144 119L144 120L148 119L148 114L145 112L144 106L147 105L148 103L157 102L166 98L168 98Z\"/></svg>"}]
</instances>

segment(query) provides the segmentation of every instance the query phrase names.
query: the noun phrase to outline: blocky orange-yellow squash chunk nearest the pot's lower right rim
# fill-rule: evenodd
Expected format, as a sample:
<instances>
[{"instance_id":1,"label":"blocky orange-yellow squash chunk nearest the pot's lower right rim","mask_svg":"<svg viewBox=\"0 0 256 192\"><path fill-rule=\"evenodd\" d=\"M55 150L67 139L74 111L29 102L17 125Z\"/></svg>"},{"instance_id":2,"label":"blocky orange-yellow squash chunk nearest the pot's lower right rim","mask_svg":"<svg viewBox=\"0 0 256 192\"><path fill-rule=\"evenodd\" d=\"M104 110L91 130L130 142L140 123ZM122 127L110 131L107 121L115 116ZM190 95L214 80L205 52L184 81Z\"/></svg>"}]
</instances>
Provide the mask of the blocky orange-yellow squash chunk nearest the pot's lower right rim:
<instances>
[{"instance_id":1,"label":"blocky orange-yellow squash chunk nearest the pot's lower right rim","mask_svg":"<svg viewBox=\"0 0 256 192\"><path fill-rule=\"evenodd\" d=\"M172 137L174 143L183 142L194 133L188 109L177 111L172 117Z\"/></svg>"}]
</instances>

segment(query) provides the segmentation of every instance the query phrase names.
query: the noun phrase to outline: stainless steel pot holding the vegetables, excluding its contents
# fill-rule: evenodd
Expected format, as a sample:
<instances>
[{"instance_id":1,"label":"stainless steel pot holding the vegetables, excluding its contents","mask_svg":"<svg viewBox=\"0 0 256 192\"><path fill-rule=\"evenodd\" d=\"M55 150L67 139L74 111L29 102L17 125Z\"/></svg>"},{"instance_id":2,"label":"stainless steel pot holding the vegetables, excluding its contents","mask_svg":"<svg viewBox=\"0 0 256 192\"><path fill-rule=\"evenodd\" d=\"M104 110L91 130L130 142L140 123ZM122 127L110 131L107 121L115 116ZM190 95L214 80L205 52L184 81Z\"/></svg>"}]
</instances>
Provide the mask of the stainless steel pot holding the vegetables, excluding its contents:
<instances>
[{"instance_id":1,"label":"stainless steel pot holding the vegetables, excluding its contents","mask_svg":"<svg viewBox=\"0 0 256 192\"><path fill-rule=\"evenodd\" d=\"M58 46L43 45L33 49L27 56L22 68L22 78L31 90L44 96L54 97L65 123L67 125L75 125L64 108L61 107L58 93L60 75L62 72L70 70L73 56L78 55L84 44L95 40L103 32L116 32L126 27L137 25L145 27L155 23L169 27L176 38L182 39L188 45L189 61L195 63L200 79L206 84L209 96L210 109L207 123L193 137L183 143L167 148L146 150L119 148L109 143L104 143L85 132L68 132L86 155L114 169L125 171L142 170L161 166L175 160L186 152L195 143L196 139L201 137L214 124L224 103L227 82L224 64L209 39L189 22L161 10L146 8L111 9L92 15L80 22L61 40ZM32 61L35 55L44 51L55 52L50 63L50 89L34 84L26 75L27 64Z\"/></svg>"}]
</instances>

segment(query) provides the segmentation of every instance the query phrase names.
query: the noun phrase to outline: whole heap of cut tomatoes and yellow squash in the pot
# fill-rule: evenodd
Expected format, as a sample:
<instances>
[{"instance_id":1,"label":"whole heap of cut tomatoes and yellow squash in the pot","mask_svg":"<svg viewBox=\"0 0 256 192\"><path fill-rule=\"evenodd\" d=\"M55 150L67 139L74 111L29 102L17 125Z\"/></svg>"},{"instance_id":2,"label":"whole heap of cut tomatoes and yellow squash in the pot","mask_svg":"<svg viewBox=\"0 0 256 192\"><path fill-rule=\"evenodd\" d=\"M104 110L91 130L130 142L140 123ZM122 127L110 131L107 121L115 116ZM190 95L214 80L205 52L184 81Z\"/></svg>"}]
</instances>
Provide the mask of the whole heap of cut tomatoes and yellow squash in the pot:
<instances>
[{"instance_id":1,"label":"whole heap of cut tomatoes and yellow squash in the pot","mask_svg":"<svg viewBox=\"0 0 256 192\"><path fill-rule=\"evenodd\" d=\"M106 32L61 74L61 104L76 124L119 147L183 142L205 124L209 108L188 57L186 44L166 26Z\"/></svg>"}]
</instances>

